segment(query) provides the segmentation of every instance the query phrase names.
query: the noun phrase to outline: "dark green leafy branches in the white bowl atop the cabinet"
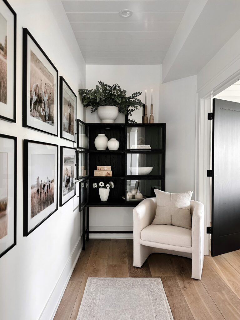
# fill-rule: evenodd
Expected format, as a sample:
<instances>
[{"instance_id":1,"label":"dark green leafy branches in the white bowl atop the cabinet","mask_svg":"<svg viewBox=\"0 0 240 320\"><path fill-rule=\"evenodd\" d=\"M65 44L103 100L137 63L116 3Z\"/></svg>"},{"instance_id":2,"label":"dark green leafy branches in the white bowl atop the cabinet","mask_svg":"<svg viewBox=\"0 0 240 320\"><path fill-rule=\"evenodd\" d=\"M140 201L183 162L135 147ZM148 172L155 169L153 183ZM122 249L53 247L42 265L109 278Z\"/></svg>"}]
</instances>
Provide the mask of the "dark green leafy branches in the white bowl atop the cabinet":
<instances>
[{"instance_id":1,"label":"dark green leafy branches in the white bowl atop the cabinet","mask_svg":"<svg viewBox=\"0 0 240 320\"><path fill-rule=\"evenodd\" d=\"M126 90L121 89L119 84L105 84L98 82L95 89L79 89L78 92L82 97L83 106L91 107L91 112L95 112L100 106L115 106L119 112L127 114L128 108L134 111L142 107L143 103L137 99L142 92L134 92L131 96L126 96Z\"/></svg>"}]
</instances>

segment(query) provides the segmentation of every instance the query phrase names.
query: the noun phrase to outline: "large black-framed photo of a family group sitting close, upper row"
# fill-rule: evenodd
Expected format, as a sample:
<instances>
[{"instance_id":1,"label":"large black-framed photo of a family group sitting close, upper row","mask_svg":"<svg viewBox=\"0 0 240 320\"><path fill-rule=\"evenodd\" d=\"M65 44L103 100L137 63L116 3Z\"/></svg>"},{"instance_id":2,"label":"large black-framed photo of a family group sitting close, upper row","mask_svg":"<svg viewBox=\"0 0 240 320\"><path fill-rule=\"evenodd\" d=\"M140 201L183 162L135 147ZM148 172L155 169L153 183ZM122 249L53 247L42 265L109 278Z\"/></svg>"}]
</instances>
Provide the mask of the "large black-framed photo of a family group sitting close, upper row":
<instances>
[{"instance_id":1,"label":"large black-framed photo of a family group sitting close, upper row","mask_svg":"<svg viewBox=\"0 0 240 320\"><path fill-rule=\"evenodd\" d=\"M28 29L23 29L24 127L58 135L58 70Z\"/></svg>"}]
</instances>

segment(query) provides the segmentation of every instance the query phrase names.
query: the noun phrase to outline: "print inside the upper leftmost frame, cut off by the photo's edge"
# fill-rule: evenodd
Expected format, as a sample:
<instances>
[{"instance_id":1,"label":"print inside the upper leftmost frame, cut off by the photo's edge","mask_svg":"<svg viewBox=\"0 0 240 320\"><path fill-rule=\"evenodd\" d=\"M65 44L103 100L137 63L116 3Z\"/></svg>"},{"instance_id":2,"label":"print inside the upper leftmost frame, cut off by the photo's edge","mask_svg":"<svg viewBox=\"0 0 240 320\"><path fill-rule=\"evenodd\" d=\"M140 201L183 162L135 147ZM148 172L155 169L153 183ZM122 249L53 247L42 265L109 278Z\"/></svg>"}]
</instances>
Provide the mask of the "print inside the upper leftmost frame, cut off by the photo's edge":
<instances>
[{"instance_id":1,"label":"print inside the upper leftmost frame, cut off by the photo's edge","mask_svg":"<svg viewBox=\"0 0 240 320\"><path fill-rule=\"evenodd\" d=\"M0 13L0 102L7 104L7 21Z\"/></svg>"}]
</instances>

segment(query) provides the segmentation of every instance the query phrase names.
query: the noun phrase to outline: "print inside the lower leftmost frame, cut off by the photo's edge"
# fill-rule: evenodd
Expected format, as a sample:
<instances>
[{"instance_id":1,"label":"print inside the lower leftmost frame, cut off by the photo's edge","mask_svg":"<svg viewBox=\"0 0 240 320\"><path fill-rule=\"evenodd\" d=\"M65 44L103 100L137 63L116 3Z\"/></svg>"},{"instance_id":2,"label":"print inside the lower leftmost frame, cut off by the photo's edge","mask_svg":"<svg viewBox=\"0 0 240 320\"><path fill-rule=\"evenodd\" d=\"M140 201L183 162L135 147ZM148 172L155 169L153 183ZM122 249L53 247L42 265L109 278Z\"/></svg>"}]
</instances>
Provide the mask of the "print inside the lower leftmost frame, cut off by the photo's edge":
<instances>
[{"instance_id":1,"label":"print inside the lower leftmost frame, cut off by the photo's edge","mask_svg":"<svg viewBox=\"0 0 240 320\"><path fill-rule=\"evenodd\" d=\"M7 152L0 152L0 239L7 235Z\"/></svg>"}]
</instances>

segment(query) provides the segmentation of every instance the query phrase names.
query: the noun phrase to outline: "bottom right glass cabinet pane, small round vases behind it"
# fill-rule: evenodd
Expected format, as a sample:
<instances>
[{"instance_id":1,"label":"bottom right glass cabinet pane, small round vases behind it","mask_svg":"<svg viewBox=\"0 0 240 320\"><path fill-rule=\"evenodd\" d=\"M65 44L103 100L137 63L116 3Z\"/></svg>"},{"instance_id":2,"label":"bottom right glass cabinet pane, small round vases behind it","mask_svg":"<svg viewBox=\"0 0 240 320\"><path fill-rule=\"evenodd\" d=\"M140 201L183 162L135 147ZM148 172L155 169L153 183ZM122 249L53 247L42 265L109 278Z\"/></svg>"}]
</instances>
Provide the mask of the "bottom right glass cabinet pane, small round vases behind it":
<instances>
[{"instance_id":1,"label":"bottom right glass cabinet pane, small round vases behind it","mask_svg":"<svg viewBox=\"0 0 240 320\"><path fill-rule=\"evenodd\" d=\"M162 190L162 180L127 180L126 201L140 202L155 197L154 189Z\"/></svg>"}]
</instances>

